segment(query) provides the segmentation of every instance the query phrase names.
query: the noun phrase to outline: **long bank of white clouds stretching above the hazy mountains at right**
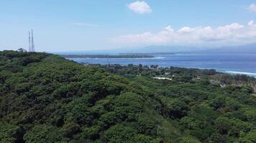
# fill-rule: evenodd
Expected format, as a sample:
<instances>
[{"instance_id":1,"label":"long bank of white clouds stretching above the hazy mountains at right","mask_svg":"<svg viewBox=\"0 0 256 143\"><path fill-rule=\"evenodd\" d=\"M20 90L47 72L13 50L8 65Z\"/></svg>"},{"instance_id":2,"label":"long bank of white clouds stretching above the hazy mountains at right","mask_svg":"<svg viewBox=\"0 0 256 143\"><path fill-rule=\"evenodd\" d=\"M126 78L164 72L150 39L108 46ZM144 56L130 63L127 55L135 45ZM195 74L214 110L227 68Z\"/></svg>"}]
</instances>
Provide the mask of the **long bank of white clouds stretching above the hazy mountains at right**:
<instances>
[{"instance_id":1,"label":"long bank of white clouds stretching above the hazy mountains at right","mask_svg":"<svg viewBox=\"0 0 256 143\"><path fill-rule=\"evenodd\" d=\"M119 46L184 45L184 46L231 46L256 42L256 24L229 24L226 26L184 26L174 30L171 26L152 33L128 34L110 40Z\"/></svg>"}]
</instances>

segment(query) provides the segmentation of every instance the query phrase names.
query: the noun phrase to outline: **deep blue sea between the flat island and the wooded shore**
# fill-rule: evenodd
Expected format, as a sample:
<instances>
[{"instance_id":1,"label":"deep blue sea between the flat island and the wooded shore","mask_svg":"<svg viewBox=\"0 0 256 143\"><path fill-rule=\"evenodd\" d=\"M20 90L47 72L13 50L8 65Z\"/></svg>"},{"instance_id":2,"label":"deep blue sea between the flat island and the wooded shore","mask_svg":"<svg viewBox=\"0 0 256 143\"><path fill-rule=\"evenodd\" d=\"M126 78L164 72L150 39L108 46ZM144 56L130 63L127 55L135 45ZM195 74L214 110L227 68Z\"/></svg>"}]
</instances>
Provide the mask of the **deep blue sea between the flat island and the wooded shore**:
<instances>
[{"instance_id":1,"label":"deep blue sea between the flat island and the wooded shore","mask_svg":"<svg viewBox=\"0 0 256 143\"><path fill-rule=\"evenodd\" d=\"M256 77L256 54L157 54L143 59L70 59L91 64L142 64L178 66L198 69L216 69L230 74L247 74Z\"/></svg>"}]
</instances>

